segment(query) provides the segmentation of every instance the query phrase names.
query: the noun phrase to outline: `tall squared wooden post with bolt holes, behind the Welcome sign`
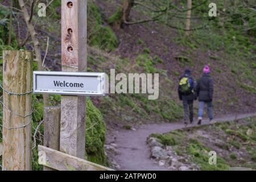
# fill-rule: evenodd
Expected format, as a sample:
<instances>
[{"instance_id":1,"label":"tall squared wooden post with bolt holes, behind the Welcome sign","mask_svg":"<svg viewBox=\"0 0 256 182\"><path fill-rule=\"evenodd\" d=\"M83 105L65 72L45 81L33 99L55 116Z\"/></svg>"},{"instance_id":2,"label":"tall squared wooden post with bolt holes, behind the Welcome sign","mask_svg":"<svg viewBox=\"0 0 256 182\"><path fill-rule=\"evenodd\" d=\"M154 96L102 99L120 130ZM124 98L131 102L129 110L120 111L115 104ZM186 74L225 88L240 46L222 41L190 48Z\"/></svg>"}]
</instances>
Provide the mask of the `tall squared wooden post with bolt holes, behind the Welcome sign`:
<instances>
[{"instance_id":1,"label":"tall squared wooden post with bolt holes, behind the Welcome sign","mask_svg":"<svg viewBox=\"0 0 256 182\"><path fill-rule=\"evenodd\" d=\"M63 71L85 71L87 60L86 0L61 0ZM61 96L60 151L85 157L85 97Z\"/></svg>"}]
</instances>

